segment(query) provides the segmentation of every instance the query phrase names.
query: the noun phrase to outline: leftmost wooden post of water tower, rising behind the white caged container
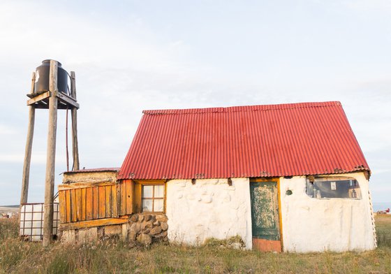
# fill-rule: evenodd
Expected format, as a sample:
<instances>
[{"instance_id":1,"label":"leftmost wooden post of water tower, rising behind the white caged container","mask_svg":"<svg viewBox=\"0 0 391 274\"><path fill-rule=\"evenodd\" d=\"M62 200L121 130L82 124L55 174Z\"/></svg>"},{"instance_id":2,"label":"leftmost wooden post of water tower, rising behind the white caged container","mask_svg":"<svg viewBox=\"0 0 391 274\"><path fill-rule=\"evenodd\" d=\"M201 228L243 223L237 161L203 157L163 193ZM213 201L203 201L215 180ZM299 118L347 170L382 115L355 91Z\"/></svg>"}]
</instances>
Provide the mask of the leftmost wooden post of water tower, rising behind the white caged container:
<instances>
[{"instance_id":1,"label":"leftmost wooden post of water tower, rising behind the white caged container","mask_svg":"<svg viewBox=\"0 0 391 274\"><path fill-rule=\"evenodd\" d=\"M34 94L35 82L36 82L36 73L33 72L33 75L31 77L30 94ZM27 203L27 196L29 194L30 163L31 163L31 151L33 147L35 117L36 117L36 108L34 108L34 106L29 106L29 125L27 127L26 149L24 150L22 191L20 193L20 207L22 207L22 203Z\"/></svg>"}]
</instances>

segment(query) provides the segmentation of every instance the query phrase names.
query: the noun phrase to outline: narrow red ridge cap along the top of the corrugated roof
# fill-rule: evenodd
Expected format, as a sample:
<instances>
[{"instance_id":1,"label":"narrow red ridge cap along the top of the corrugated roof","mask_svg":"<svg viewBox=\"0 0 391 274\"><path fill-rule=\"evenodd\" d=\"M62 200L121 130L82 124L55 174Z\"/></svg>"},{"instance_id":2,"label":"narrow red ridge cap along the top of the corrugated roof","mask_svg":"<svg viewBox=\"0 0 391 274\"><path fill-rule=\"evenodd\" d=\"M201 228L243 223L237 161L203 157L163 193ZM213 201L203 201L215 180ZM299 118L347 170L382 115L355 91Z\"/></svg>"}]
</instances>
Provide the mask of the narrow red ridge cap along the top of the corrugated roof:
<instances>
[{"instance_id":1,"label":"narrow red ridge cap along the top of the corrugated roof","mask_svg":"<svg viewBox=\"0 0 391 274\"><path fill-rule=\"evenodd\" d=\"M168 114L197 114L197 113L235 113L246 111L267 111L267 110L283 110L296 108L317 108L325 106L341 106L339 101L325 102L304 102L304 103L280 103L272 105L253 105L253 106L229 106L218 108L182 108L182 109L166 109L166 110L143 110L145 115L168 115Z\"/></svg>"}]
</instances>

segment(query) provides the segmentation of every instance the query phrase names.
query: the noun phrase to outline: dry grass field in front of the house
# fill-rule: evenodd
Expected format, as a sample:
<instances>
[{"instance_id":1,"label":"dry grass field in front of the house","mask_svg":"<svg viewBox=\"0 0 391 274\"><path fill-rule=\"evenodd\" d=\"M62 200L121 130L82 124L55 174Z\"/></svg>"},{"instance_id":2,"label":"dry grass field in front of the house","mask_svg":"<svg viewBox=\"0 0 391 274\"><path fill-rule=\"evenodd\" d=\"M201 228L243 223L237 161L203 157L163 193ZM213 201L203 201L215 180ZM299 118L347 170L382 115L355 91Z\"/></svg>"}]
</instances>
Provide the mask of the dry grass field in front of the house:
<instances>
[{"instance_id":1,"label":"dry grass field in front of the house","mask_svg":"<svg viewBox=\"0 0 391 274\"><path fill-rule=\"evenodd\" d=\"M376 217L376 226L371 252L274 254L112 241L44 248L19 240L16 219L0 219L0 273L391 273L391 217Z\"/></svg>"}]
</instances>

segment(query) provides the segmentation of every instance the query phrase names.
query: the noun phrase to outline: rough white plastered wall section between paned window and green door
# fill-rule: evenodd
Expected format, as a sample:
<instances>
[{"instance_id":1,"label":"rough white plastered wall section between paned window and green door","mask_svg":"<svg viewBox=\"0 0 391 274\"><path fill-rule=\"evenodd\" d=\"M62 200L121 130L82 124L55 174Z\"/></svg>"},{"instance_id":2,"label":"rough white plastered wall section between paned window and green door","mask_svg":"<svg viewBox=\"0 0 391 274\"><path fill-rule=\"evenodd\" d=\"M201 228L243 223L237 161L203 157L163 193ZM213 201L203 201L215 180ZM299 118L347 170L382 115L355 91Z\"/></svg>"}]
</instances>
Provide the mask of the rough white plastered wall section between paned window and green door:
<instances>
[{"instance_id":1,"label":"rough white plastered wall section between paned window and green door","mask_svg":"<svg viewBox=\"0 0 391 274\"><path fill-rule=\"evenodd\" d=\"M207 238L240 236L251 249L251 206L248 178L170 180L166 215L171 242L199 245Z\"/></svg>"}]
</instances>

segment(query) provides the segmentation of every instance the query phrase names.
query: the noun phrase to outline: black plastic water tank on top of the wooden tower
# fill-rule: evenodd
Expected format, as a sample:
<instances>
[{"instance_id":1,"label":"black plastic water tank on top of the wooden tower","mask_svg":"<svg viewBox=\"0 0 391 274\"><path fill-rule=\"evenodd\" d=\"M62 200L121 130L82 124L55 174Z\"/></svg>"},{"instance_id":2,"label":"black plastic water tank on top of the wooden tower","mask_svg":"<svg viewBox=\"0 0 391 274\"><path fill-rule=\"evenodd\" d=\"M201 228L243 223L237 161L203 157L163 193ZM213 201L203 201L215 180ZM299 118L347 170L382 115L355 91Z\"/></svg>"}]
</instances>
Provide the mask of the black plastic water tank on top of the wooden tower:
<instances>
[{"instance_id":1,"label":"black plastic water tank on top of the wooden tower","mask_svg":"<svg viewBox=\"0 0 391 274\"><path fill-rule=\"evenodd\" d=\"M58 64L57 72L57 87L59 92L68 94L68 73L61 67L61 63ZM43 60L42 64L36 68L36 84L34 92L47 92L49 91L49 74L50 74L50 60Z\"/></svg>"}]
</instances>

